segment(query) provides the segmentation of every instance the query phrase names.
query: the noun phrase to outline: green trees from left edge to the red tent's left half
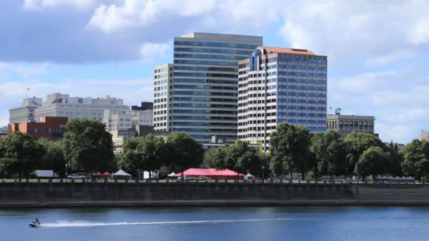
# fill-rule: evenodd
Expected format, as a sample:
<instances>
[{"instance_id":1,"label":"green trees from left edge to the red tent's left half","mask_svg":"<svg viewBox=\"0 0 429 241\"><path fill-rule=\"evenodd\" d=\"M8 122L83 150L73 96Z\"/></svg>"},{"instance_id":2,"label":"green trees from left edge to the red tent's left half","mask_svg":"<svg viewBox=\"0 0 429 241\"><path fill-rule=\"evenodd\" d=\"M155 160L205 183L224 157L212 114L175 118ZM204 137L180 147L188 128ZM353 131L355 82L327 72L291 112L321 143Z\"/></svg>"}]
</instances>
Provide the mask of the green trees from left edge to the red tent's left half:
<instances>
[{"instance_id":1,"label":"green trees from left edge to the red tent's left half","mask_svg":"<svg viewBox=\"0 0 429 241\"><path fill-rule=\"evenodd\" d=\"M32 171L54 170L60 175L75 171L138 170L183 171L203 163L203 145L186 135L174 132L167 140L155 135L125 140L120 155L115 156L111 134L103 123L73 119L60 141L35 140L14 132L0 142L0 173L28 177ZM66 166L67 164L67 166Z\"/></svg>"}]
</instances>

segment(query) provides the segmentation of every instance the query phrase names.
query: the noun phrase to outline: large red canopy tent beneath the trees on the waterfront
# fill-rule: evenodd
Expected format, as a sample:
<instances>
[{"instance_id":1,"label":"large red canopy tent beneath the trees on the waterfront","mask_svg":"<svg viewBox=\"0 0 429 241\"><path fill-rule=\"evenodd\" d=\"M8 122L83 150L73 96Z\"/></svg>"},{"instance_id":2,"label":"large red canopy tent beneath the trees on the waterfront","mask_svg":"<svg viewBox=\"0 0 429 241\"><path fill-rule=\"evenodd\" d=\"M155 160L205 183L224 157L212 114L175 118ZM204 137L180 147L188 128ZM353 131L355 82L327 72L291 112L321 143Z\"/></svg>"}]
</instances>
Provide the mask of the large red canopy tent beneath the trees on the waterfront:
<instances>
[{"instance_id":1,"label":"large red canopy tent beneath the trees on the waterfront","mask_svg":"<svg viewBox=\"0 0 429 241\"><path fill-rule=\"evenodd\" d=\"M181 177L182 173L177 173L177 176ZM215 168L189 168L183 172L183 175L190 176L193 178L200 178L200 176L205 176L208 179L212 180L242 180L244 174L231 171L229 169L217 170Z\"/></svg>"}]
</instances>

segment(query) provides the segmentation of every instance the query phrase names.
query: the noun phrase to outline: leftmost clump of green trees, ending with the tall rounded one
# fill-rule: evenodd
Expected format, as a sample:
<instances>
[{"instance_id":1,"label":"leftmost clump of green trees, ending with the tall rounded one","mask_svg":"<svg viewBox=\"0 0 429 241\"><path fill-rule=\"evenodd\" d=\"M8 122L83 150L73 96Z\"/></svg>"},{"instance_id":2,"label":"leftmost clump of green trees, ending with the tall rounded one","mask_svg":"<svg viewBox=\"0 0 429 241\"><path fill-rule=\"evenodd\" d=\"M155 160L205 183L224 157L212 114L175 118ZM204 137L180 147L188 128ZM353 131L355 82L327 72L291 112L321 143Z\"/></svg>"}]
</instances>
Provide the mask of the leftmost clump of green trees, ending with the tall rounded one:
<instances>
[{"instance_id":1,"label":"leftmost clump of green trees, ending with the tall rounded one","mask_svg":"<svg viewBox=\"0 0 429 241\"><path fill-rule=\"evenodd\" d=\"M35 140L13 132L0 142L0 173L28 177L34 170L107 171L114 168L113 142L104 124L74 119L67 124L61 141Z\"/></svg>"}]
</instances>

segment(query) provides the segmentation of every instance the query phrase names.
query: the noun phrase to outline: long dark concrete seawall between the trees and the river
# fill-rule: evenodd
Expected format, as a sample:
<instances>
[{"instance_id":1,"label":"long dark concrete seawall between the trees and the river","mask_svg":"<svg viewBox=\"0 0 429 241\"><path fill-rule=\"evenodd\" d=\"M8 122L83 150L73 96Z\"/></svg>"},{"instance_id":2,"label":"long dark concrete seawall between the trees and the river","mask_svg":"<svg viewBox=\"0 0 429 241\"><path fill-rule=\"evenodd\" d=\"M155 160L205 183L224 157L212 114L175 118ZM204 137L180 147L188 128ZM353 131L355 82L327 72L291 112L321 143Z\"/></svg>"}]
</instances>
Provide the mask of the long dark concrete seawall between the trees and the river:
<instances>
[{"instance_id":1,"label":"long dark concrete seawall between the trees and the river","mask_svg":"<svg viewBox=\"0 0 429 241\"><path fill-rule=\"evenodd\" d=\"M428 205L429 185L1 183L0 207Z\"/></svg>"}]
</instances>

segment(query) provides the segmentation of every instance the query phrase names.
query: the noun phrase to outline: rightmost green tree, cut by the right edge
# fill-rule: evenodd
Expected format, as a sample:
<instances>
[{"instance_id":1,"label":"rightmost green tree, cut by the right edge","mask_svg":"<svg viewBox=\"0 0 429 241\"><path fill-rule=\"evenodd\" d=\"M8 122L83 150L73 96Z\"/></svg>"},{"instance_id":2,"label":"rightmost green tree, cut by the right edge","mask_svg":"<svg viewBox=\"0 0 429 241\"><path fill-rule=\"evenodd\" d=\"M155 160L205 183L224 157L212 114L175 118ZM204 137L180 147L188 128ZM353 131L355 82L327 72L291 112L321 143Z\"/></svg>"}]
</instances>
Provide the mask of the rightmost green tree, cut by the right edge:
<instances>
[{"instance_id":1,"label":"rightmost green tree, cut by the right edge","mask_svg":"<svg viewBox=\"0 0 429 241\"><path fill-rule=\"evenodd\" d=\"M404 147L404 161L401 166L405 175L425 181L429 172L429 143L413 140Z\"/></svg>"}]
</instances>

